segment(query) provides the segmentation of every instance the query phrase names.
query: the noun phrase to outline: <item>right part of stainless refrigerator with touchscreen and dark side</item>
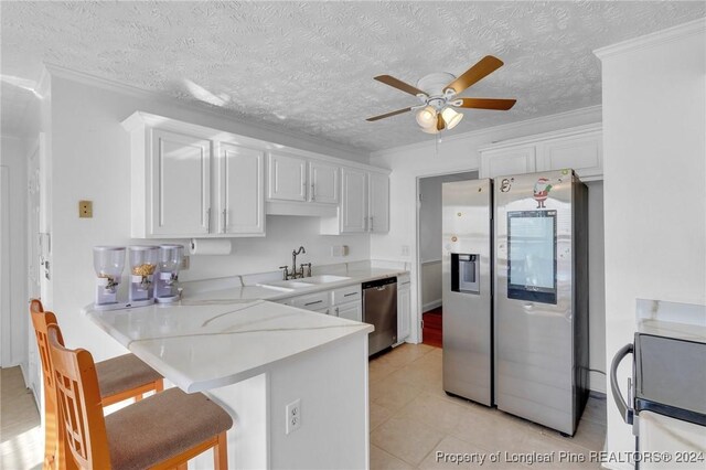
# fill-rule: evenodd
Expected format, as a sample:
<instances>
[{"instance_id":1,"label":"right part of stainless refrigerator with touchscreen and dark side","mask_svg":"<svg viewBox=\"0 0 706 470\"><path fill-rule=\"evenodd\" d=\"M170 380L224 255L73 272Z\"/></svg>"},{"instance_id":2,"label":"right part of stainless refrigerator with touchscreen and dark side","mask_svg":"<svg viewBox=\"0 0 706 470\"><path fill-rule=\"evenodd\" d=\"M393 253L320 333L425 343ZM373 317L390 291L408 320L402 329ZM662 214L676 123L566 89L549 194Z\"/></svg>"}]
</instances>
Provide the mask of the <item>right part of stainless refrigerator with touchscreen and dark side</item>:
<instances>
[{"instance_id":1,"label":"right part of stainless refrigerator with touchscreen and dark side","mask_svg":"<svg viewBox=\"0 0 706 470\"><path fill-rule=\"evenodd\" d=\"M588 398L587 188L571 170L501 177L495 403L574 435Z\"/></svg>"}]
</instances>

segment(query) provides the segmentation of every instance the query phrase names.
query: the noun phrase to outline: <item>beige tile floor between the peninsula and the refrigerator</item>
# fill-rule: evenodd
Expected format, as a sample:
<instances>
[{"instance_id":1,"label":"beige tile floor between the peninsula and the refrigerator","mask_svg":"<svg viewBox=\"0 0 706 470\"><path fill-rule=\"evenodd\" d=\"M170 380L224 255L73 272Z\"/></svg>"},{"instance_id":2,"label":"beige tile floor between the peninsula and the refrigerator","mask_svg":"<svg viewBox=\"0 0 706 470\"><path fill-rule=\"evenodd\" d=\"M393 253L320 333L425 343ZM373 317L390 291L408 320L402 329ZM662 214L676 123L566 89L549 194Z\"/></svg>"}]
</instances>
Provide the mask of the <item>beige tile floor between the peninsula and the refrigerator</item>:
<instances>
[{"instance_id":1,"label":"beige tile floor between the peninsula and the refrigerator","mask_svg":"<svg viewBox=\"0 0 706 470\"><path fill-rule=\"evenodd\" d=\"M603 447L605 398L591 397L576 436L565 438L498 409L448 396L441 386L441 349L404 344L371 361L371 470L600 468L590 462L590 451ZM500 460L490 462L498 451ZM443 462L437 460L437 452L486 460L483 466ZM553 461L525 464L532 452L554 452ZM559 461L569 456L582 456L586 462ZM524 462L513 461L523 458Z\"/></svg>"}]
</instances>

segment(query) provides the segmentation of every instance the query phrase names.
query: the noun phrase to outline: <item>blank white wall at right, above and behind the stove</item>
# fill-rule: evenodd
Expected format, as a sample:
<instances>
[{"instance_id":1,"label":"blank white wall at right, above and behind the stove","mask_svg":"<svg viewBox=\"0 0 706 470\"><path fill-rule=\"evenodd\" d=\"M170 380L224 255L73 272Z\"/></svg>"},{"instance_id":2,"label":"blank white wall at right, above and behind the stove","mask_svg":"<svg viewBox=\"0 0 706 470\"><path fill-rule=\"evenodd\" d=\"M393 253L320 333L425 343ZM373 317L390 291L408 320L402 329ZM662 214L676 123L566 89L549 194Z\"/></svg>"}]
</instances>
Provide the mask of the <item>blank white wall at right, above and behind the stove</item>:
<instances>
[{"instance_id":1,"label":"blank white wall at right, above and behind the stove","mask_svg":"<svg viewBox=\"0 0 706 470\"><path fill-rule=\"evenodd\" d=\"M706 21L598 51L602 61L606 355L635 299L706 303ZM625 361L629 362L629 361ZM628 367L621 371L624 388ZM609 398L608 450L633 450Z\"/></svg>"}]
</instances>

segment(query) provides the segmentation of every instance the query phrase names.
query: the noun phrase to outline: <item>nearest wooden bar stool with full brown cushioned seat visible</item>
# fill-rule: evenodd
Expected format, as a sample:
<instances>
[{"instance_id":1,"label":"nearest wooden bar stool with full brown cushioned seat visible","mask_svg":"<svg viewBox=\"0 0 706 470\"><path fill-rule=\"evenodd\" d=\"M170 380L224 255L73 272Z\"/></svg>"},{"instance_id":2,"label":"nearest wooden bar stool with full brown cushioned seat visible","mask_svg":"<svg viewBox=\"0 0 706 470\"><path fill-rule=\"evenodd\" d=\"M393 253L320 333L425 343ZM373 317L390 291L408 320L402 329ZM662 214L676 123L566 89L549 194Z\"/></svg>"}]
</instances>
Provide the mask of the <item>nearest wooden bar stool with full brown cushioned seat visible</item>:
<instances>
[{"instance_id":1,"label":"nearest wooden bar stool with full brown cushioned seat visible","mask_svg":"<svg viewBox=\"0 0 706 470\"><path fill-rule=\"evenodd\" d=\"M226 431L233 419L205 395L170 388L104 416L90 353L65 349L55 324L47 337L67 468L184 468L213 448L214 469L227 469Z\"/></svg>"}]
</instances>

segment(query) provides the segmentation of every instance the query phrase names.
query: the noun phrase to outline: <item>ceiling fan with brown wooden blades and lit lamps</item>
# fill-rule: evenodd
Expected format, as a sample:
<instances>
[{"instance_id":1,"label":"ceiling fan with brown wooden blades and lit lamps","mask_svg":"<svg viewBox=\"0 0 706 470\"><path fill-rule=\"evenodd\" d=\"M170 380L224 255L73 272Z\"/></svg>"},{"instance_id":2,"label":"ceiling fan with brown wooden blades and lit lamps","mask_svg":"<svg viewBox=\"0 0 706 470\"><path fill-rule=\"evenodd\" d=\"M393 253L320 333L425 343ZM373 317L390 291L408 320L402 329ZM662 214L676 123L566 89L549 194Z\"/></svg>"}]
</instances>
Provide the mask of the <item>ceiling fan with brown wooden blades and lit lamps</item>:
<instances>
[{"instance_id":1,"label":"ceiling fan with brown wooden blades and lit lamps","mask_svg":"<svg viewBox=\"0 0 706 470\"><path fill-rule=\"evenodd\" d=\"M375 121L418 109L417 124L421 130L427 133L439 133L443 129L453 129L463 118L463 114L457 113L453 108L506 111L515 105L516 99L458 97L466 88L480 82L502 65L503 62L500 58L486 55L459 77L446 72L434 73L417 82L416 87L391 75L376 76L374 79L416 96L421 104L374 116L366 120Z\"/></svg>"}]
</instances>

